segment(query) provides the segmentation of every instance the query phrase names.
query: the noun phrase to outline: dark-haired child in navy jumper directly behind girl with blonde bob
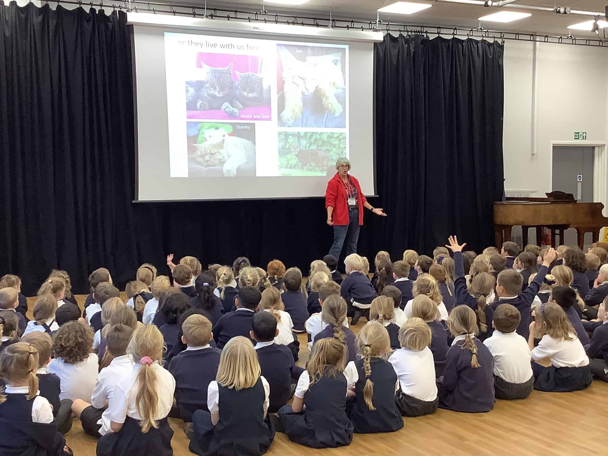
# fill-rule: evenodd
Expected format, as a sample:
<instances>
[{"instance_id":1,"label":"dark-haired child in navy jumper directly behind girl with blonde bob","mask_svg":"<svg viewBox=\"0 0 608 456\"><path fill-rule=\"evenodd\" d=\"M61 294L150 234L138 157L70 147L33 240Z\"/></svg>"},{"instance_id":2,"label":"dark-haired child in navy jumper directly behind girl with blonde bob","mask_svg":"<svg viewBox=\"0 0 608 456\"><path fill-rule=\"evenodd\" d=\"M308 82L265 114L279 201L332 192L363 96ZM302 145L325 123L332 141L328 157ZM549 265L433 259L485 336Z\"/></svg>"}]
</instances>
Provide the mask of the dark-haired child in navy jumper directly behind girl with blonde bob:
<instances>
[{"instance_id":1,"label":"dark-haired child in navy jumper directly behind girl with blonde bob","mask_svg":"<svg viewBox=\"0 0 608 456\"><path fill-rule=\"evenodd\" d=\"M240 289L236 300L237 310L221 316L213 327L213 339L218 348L224 348L232 337L249 337L251 320L254 318L261 297L260 290L255 286L244 286Z\"/></svg>"}]
</instances>

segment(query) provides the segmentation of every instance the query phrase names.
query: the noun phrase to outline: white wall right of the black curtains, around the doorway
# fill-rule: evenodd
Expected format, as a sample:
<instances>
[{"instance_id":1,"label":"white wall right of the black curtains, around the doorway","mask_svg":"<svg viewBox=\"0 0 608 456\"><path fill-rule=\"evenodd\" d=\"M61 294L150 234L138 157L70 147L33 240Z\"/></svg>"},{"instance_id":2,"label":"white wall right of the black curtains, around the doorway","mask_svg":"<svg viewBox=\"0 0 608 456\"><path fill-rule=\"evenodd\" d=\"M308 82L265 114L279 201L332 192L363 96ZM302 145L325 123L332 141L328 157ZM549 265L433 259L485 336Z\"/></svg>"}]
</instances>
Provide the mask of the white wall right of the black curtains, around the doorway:
<instances>
[{"instance_id":1,"label":"white wall right of the black curtains, around the doorway","mask_svg":"<svg viewBox=\"0 0 608 456\"><path fill-rule=\"evenodd\" d=\"M608 140L608 47L537 43L533 155L533 46L505 43L505 190L544 196L551 191L551 141L572 141L575 131Z\"/></svg>"}]
</instances>

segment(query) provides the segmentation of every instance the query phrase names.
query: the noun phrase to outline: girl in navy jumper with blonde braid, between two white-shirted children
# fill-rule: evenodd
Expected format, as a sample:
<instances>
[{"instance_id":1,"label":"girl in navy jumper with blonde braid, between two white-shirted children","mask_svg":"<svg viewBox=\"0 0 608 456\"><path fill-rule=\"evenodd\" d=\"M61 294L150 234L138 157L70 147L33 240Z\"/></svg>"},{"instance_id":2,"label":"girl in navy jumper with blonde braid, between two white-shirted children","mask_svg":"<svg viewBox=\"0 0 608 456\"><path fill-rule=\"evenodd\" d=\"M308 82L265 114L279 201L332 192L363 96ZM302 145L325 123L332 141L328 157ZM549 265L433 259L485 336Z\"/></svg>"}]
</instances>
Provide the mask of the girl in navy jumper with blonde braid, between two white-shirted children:
<instances>
[{"instance_id":1,"label":"girl in navy jumper with blonde braid, between two white-shirted children","mask_svg":"<svg viewBox=\"0 0 608 456\"><path fill-rule=\"evenodd\" d=\"M446 368L437 381L440 409L489 412L494 408L492 354L475 337L477 316L465 305L452 309L447 326L454 336Z\"/></svg>"}]
</instances>

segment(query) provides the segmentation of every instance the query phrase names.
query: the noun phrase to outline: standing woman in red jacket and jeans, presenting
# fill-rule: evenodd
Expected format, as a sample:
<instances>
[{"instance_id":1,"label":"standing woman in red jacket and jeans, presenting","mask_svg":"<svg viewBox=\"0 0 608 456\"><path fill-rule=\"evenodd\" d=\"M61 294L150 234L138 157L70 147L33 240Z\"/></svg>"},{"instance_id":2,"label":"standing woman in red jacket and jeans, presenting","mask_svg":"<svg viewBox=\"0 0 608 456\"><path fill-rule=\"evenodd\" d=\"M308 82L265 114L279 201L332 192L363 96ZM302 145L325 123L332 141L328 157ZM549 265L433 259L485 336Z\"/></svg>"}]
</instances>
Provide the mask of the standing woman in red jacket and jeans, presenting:
<instances>
[{"instance_id":1,"label":"standing woman in red jacket and jeans, presenting","mask_svg":"<svg viewBox=\"0 0 608 456\"><path fill-rule=\"evenodd\" d=\"M327 224L334 227L334 243L330 255L340 258L342 246L346 240L346 255L357 252L359 229L363 224L363 208L371 210L376 215L386 216L379 207L372 207L361 192L359 181L348 174L350 162L347 157L336 161L336 175L327 182L325 191L325 207L327 209Z\"/></svg>"}]
</instances>

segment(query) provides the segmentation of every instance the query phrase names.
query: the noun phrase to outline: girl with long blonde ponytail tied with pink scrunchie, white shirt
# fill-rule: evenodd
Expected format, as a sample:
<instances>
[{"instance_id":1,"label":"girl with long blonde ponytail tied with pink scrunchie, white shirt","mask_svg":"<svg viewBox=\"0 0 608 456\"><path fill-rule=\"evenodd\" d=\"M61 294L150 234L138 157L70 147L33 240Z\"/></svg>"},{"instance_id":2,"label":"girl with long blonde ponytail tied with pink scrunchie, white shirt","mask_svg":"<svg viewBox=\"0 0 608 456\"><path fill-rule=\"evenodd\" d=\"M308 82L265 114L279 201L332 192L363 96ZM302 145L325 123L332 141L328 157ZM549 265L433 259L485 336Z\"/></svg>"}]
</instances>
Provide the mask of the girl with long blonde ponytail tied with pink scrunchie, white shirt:
<instances>
[{"instance_id":1,"label":"girl with long blonde ponytail tied with pink scrunchie, white shirt","mask_svg":"<svg viewBox=\"0 0 608 456\"><path fill-rule=\"evenodd\" d=\"M161 366L163 340L154 325L133 333L126 350L134 365L116 384L108 401L110 428L97 443L97 456L172 455L173 430L167 415L175 380Z\"/></svg>"}]
</instances>

